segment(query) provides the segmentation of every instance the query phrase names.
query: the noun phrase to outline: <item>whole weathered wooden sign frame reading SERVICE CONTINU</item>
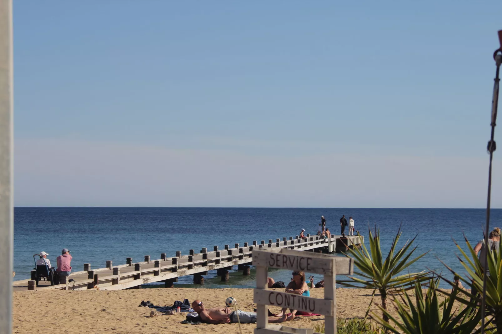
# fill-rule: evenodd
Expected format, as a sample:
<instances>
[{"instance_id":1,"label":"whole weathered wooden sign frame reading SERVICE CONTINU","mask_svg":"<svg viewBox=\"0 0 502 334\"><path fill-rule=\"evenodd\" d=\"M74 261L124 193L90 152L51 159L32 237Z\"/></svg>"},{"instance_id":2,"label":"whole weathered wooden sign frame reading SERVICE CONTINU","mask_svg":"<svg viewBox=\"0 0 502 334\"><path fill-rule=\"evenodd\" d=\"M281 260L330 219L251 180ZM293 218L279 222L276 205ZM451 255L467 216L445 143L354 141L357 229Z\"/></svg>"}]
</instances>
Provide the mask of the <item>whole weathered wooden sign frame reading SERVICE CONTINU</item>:
<instances>
[{"instance_id":1,"label":"whole weathered wooden sign frame reading SERVICE CONTINU","mask_svg":"<svg viewBox=\"0 0 502 334\"><path fill-rule=\"evenodd\" d=\"M257 327L255 334L313 333L313 329L299 329L268 324L268 305L287 307L324 315L325 334L336 334L336 275L353 274L353 260L326 254L295 251L286 248L261 248L253 251L256 266ZM268 290L268 268L305 271L324 275L324 299Z\"/></svg>"}]
</instances>

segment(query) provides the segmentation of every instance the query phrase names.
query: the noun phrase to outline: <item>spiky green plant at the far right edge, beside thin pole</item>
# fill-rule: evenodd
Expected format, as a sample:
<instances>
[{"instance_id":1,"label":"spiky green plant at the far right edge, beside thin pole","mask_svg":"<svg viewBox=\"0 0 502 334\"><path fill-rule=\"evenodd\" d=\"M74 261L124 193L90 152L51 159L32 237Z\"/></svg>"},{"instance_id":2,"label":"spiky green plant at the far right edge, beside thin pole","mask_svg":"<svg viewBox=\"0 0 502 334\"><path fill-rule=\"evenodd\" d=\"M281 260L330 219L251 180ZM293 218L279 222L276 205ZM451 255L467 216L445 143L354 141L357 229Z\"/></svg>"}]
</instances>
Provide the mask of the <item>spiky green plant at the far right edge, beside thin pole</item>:
<instances>
[{"instance_id":1,"label":"spiky green plant at the far right edge, beside thin pole","mask_svg":"<svg viewBox=\"0 0 502 334\"><path fill-rule=\"evenodd\" d=\"M444 264L444 262L443 264L452 274L458 276L466 286L471 288L474 287L477 291L483 291L484 268L481 266L481 262L477 258L476 253L474 253L474 249L465 236L464 239L467 244L467 248L469 249L470 257L456 242L455 245L465 259L462 260L457 256L468 274L467 279L456 273L453 269ZM486 263L489 270L489 275L486 279L486 297L484 299L486 304L486 315L492 317L496 326L496 332L502 333L502 243L499 243L499 248L496 252L488 252ZM441 278L450 283L452 286L455 285L454 282L451 282L444 277ZM450 296L448 292L442 293ZM455 299L468 306L477 307L477 305L480 305L481 296L479 294L473 295L470 292L465 291L464 295L465 297L456 295Z\"/></svg>"}]
</instances>

